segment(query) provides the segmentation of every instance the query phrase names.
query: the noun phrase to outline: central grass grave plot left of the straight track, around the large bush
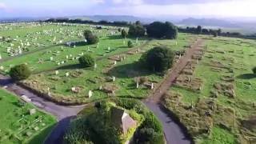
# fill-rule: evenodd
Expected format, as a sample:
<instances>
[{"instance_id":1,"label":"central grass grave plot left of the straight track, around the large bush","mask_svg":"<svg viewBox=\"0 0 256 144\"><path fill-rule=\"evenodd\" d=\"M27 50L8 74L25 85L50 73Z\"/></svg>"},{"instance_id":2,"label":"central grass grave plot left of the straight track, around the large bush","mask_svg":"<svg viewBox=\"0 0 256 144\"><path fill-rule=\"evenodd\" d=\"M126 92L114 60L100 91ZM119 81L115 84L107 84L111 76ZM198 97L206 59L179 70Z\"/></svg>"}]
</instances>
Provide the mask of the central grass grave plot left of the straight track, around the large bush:
<instances>
[{"instance_id":1,"label":"central grass grave plot left of the straight track, around the large bush","mask_svg":"<svg viewBox=\"0 0 256 144\"><path fill-rule=\"evenodd\" d=\"M162 75L151 74L142 69L138 65L138 59L146 50L164 44L175 45L174 50L185 50L188 44L184 37L187 36L182 37L178 44L180 47L173 43L175 41L153 40L146 46L99 59L90 69L79 68L76 60L74 65L34 74L22 83L61 103L78 104L113 96L145 98ZM131 54L130 51L134 53ZM140 82L138 79L141 79Z\"/></svg>"}]
</instances>

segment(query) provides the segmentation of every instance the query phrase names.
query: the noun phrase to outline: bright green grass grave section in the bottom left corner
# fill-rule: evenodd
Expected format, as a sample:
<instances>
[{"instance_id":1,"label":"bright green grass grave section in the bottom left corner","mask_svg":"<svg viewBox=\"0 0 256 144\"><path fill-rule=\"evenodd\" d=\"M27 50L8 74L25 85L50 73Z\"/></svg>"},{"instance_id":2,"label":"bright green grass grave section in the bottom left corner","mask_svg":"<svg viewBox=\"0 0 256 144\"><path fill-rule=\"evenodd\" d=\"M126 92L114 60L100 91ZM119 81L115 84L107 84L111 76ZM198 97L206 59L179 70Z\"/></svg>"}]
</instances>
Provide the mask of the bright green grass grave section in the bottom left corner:
<instances>
[{"instance_id":1,"label":"bright green grass grave section in the bottom left corner","mask_svg":"<svg viewBox=\"0 0 256 144\"><path fill-rule=\"evenodd\" d=\"M30 110L35 114L30 115ZM56 119L13 94L0 90L0 143L42 143Z\"/></svg>"}]
</instances>

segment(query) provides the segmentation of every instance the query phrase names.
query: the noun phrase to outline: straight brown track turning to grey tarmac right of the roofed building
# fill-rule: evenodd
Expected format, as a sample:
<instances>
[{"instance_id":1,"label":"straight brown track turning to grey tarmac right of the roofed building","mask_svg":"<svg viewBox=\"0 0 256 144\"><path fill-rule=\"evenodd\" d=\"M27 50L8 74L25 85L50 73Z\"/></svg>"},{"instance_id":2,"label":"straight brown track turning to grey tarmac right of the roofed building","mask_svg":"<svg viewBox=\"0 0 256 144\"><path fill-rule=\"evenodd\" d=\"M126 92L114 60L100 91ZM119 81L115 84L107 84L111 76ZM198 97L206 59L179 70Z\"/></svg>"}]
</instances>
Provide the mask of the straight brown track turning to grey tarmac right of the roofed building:
<instances>
[{"instance_id":1,"label":"straight brown track turning to grey tarmac right of the roofed building","mask_svg":"<svg viewBox=\"0 0 256 144\"><path fill-rule=\"evenodd\" d=\"M174 117L171 112L166 110L161 104L162 95L170 90L170 86L174 84L178 75L186 67L186 64L192 58L195 51L202 45L202 40L197 40L194 45L186 50L184 56L176 63L172 70L170 70L162 82L154 89L150 94L150 97L144 101L146 106L158 117L164 129L166 143L167 144L189 144L192 143L186 130L177 121L174 121Z\"/></svg>"}]
</instances>

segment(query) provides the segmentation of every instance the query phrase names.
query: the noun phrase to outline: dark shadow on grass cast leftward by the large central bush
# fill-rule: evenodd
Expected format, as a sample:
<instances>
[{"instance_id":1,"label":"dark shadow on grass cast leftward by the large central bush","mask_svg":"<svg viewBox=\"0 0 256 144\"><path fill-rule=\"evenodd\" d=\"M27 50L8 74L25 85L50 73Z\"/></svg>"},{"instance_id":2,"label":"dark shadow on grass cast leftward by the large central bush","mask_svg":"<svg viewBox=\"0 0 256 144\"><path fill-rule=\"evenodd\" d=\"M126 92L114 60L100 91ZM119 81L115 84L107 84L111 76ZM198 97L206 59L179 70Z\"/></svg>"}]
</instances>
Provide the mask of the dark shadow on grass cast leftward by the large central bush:
<instances>
[{"instance_id":1,"label":"dark shadow on grass cast leftward by the large central bush","mask_svg":"<svg viewBox=\"0 0 256 144\"><path fill-rule=\"evenodd\" d=\"M115 66L109 70L107 74L116 78L135 78L150 75L152 72L141 66L139 62L134 62L121 66Z\"/></svg>"}]
</instances>

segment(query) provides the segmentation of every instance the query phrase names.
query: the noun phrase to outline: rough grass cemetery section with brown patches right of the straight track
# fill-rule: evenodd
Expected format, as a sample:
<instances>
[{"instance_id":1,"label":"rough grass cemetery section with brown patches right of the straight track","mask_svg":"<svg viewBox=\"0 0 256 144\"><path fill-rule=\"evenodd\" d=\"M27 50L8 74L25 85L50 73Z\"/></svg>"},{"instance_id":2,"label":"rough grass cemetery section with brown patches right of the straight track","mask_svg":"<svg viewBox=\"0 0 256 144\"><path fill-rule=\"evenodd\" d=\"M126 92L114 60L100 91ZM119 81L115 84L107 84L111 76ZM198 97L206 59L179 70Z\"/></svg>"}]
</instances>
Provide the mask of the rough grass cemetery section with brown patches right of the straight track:
<instances>
[{"instance_id":1,"label":"rough grass cemetery section with brown patches right of the straight track","mask_svg":"<svg viewBox=\"0 0 256 144\"><path fill-rule=\"evenodd\" d=\"M200 79L201 90L176 83L164 105L196 143L255 143L255 41L201 37L205 38L205 54L195 64L194 73L185 74L191 83Z\"/></svg>"}]
</instances>

